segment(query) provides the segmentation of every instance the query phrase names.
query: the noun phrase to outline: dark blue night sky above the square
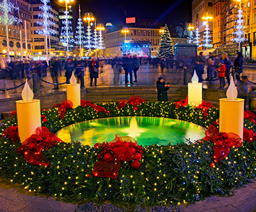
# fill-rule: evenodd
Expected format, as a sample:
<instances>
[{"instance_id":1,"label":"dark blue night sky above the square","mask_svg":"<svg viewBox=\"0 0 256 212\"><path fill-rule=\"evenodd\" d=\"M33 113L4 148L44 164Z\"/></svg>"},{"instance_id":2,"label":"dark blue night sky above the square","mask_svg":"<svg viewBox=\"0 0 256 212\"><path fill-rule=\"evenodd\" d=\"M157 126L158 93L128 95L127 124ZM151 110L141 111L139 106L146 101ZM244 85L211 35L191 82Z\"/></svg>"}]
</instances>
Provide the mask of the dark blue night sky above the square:
<instances>
[{"instance_id":1,"label":"dark blue night sky above the square","mask_svg":"<svg viewBox=\"0 0 256 212\"><path fill-rule=\"evenodd\" d=\"M52 0L54 8L60 7L58 0ZM81 15L91 11L97 22L111 22L113 26L124 26L126 17L136 19L157 19L162 25L173 27L184 22L191 22L192 0L74 0L71 3L73 10L78 11L81 4ZM64 5L64 3L62 3Z\"/></svg>"}]
</instances>

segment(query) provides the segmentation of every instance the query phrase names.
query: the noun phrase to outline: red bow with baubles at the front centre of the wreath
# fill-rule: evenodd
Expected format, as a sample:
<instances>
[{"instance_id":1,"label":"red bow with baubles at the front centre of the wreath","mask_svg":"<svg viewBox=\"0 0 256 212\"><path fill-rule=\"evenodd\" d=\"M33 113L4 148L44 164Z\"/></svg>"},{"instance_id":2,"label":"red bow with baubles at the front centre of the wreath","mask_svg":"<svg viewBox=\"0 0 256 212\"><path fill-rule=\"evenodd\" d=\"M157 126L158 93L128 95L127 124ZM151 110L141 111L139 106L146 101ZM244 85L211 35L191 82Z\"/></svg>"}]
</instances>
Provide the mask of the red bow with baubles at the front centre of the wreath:
<instances>
[{"instance_id":1,"label":"red bow with baubles at the front centre of the wreath","mask_svg":"<svg viewBox=\"0 0 256 212\"><path fill-rule=\"evenodd\" d=\"M101 148L103 151L98 155L98 160L105 161L96 162L92 174L95 177L102 178L116 179L121 160L139 161L143 153L142 146L139 146L136 140L129 136L120 137L120 135L116 135L116 138L111 142L104 142ZM140 162L136 162L136 169L138 169L138 163Z\"/></svg>"}]
</instances>

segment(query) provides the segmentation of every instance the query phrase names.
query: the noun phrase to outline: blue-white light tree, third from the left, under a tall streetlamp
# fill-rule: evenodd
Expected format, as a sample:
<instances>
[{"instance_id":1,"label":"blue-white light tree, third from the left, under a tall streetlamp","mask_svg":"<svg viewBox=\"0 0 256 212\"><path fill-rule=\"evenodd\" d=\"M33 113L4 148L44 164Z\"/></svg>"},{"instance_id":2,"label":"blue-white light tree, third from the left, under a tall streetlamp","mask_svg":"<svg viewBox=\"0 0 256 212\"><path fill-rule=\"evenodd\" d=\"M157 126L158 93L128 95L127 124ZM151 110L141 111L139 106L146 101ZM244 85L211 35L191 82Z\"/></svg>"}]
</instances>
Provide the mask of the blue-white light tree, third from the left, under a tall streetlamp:
<instances>
[{"instance_id":1,"label":"blue-white light tree, third from the left, under a tall streetlamp","mask_svg":"<svg viewBox=\"0 0 256 212\"><path fill-rule=\"evenodd\" d=\"M65 13L65 19L62 20L63 26L61 27L61 33L60 33L62 38L60 39L60 42L63 43L63 45L67 45L67 49L68 49L68 45L70 45L70 43L74 43L74 39L73 39L74 34L72 31L72 22L71 20L69 20L70 18L70 16L68 15L69 12L64 11L64 13Z\"/></svg>"}]
</instances>

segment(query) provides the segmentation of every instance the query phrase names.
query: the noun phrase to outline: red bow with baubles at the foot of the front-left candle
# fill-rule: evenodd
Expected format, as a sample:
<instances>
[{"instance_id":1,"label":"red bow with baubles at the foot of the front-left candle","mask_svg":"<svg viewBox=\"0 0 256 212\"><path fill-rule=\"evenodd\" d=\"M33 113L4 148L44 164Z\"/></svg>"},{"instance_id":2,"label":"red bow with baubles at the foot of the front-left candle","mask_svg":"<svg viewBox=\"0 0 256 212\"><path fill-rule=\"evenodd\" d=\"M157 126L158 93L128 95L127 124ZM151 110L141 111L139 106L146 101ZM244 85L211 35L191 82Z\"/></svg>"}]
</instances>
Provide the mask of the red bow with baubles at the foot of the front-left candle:
<instances>
[{"instance_id":1,"label":"red bow with baubles at the foot of the front-left candle","mask_svg":"<svg viewBox=\"0 0 256 212\"><path fill-rule=\"evenodd\" d=\"M56 146L57 142L62 142L54 133L40 126L36 128L36 134L31 135L26 139L18 149L17 153L24 153L27 162L33 165L50 166L49 161L45 160L44 155L41 153L42 149L47 150Z\"/></svg>"}]
</instances>

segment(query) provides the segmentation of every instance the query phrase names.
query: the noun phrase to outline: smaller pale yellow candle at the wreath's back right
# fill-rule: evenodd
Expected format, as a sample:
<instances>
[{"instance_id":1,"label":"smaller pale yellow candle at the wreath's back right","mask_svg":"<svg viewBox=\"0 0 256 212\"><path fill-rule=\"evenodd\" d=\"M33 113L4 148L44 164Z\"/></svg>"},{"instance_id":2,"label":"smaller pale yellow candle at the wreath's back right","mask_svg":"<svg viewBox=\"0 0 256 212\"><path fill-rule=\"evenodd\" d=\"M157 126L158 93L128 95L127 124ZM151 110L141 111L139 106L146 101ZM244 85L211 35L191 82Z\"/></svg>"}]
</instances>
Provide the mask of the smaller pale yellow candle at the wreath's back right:
<instances>
[{"instance_id":1,"label":"smaller pale yellow candle at the wreath's back right","mask_svg":"<svg viewBox=\"0 0 256 212\"><path fill-rule=\"evenodd\" d=\"M202 82L198 82L196 71L188 83L188 103L191 105L200 105L202 103Z\"/></svg>"}]
</instances>

